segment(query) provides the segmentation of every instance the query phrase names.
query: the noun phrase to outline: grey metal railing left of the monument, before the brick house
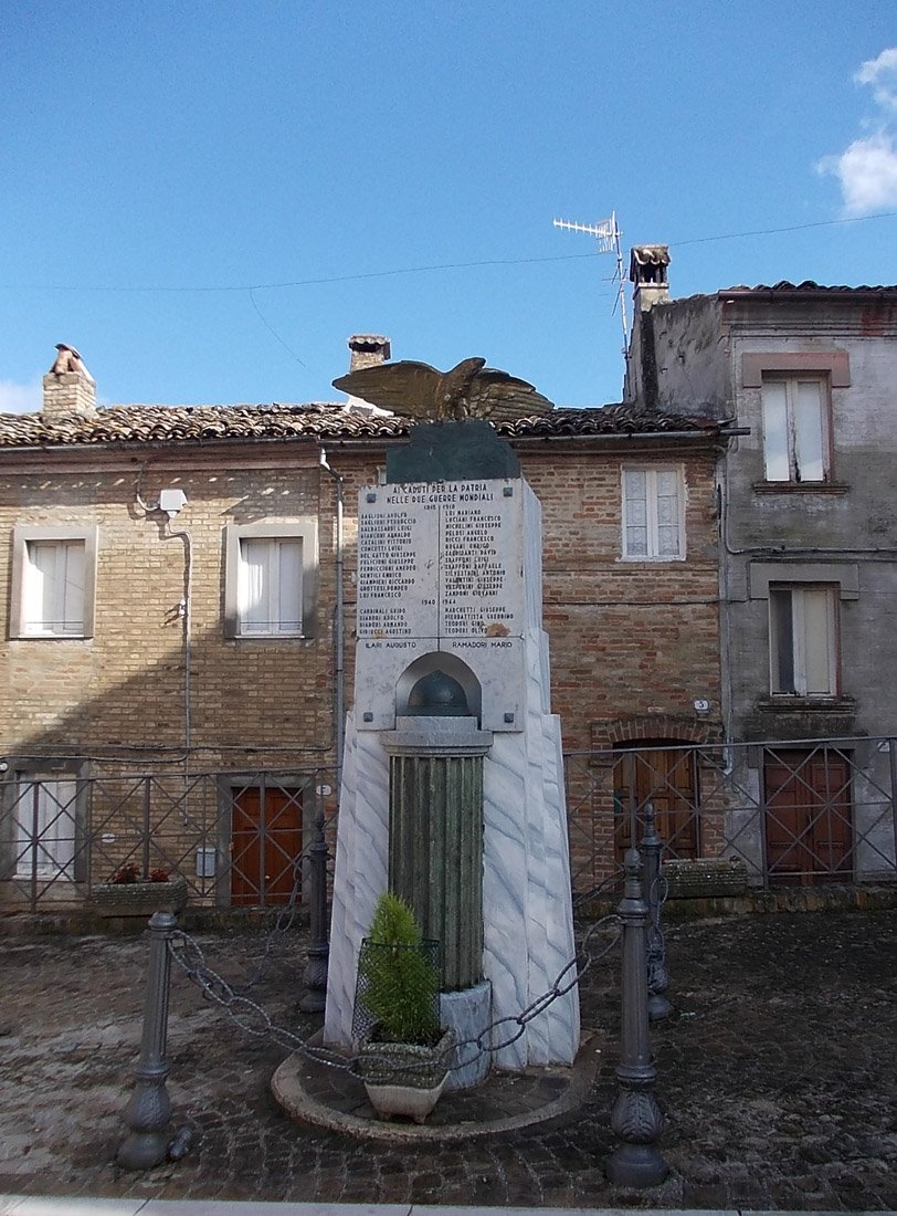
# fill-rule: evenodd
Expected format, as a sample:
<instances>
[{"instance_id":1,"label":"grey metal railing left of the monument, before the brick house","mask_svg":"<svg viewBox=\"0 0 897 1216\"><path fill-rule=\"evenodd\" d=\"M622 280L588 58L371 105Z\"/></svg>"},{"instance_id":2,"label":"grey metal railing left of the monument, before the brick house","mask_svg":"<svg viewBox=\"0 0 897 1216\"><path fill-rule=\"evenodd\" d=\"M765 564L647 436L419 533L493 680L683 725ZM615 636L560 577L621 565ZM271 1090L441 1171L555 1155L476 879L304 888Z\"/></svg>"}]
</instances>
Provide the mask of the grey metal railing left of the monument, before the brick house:
<instances>
[{"instance_id":1,"label":"grey metal railing left of the monument, before the brick house","mask_svg":"<svg viewBox=\"0 0 897 1216\"><path fill-rule=\"evenodd\" d=\"M332 767L38 776L13 759L11 769L0 821L7 905L81 906L132 867L143 880L182 876L192 903L264 908L303 897L320 814L333 854Z\"/></svg>"}]
</instances>

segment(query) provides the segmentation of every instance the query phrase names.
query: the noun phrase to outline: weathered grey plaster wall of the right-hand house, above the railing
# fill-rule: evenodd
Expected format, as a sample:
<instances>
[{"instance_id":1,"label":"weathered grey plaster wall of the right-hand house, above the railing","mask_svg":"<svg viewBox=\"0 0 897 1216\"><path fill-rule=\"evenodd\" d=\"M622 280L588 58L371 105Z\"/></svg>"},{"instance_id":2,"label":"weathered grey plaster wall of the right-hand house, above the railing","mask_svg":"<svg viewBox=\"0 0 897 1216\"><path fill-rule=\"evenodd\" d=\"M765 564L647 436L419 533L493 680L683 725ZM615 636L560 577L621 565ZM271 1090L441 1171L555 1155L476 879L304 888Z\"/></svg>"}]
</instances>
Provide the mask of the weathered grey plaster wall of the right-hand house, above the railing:
<instances>
[{"instance_id":1,"label":"weathered grey plaster wall of the right-hand house, above the railing","mask_svg":"<svg viewBox=\"0 0 897 1216\"><path fill-rule=\"evenodd\" d=\"M730 375L738 420L750 427L727 467L727 581L732 603L732 731L735 738L886 734L897 722L890 672L897 613L897 322L861 303L738 304L730 323ZM747 353L846 351L848 387L831 388L831 486L763 483L762 395L745 385ZM820 581L847 574L857 595L841 598L841 703L768 705L768 601L751 595L752 563L806 563ZM846 567L845 572L842 568ZM766 704L765 704L766 702Z\"/></svg>"}]
</instances>

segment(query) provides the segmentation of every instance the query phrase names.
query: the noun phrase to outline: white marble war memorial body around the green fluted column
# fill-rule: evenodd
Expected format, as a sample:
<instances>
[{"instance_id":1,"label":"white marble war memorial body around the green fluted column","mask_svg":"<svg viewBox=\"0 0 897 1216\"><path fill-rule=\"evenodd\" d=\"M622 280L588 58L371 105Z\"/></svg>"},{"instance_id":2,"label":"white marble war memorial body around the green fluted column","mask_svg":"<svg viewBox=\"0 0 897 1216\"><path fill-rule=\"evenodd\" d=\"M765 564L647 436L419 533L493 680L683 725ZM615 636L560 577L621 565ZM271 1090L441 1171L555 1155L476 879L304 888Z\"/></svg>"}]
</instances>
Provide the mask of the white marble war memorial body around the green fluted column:
<instances>
[{"instance_id":1,"label":"white marble war memorial body around the green fluted column","mask_svg":"<svg viewBox=\"0 0 897 1216\"><path fill-rule=\"evenodd\" d=\"M483 771L483 973L491 1020L520 1014L575 955L538 500L519 477L362 490L357 590L325 1017L326 1041L346 1047L359 947L389 879L385 742L428 671L459 679L475 725L491 734ZM504 1024L492 1046L508 1037ZM579 1041L574 986L493 1059L510 1070L569 1064Z\"/></svg>"}]
</instances>

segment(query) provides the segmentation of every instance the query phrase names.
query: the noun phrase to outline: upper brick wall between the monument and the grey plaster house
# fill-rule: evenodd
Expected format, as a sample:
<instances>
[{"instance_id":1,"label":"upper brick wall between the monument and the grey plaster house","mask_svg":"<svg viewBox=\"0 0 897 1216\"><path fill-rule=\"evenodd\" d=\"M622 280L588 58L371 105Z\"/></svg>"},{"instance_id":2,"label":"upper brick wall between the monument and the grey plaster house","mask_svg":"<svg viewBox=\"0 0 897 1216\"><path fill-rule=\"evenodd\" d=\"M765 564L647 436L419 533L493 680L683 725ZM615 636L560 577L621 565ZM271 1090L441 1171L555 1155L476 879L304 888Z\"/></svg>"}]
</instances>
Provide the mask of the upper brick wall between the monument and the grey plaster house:
<instances>
[{"instance_id":1,"label":"upper brick wall between the monument and the grey plaster house","mask_svg":"<svg viewBox=\"0 0 897 1216\"><path fill-rule=\"evenodd\" d=\"M713 461L673 461L684 467L686 561L624 562L621 467L632 458L627 451L524 462L542 501L545 627L566 748L621 742L610 734L620 719L633 720L633 739L641 717L667 715L671 731L679 724L672 738L692 738L707 717L720 722ZM695 715L699 698L711 703L710 715Z\"/></svg>"}]
</instances>

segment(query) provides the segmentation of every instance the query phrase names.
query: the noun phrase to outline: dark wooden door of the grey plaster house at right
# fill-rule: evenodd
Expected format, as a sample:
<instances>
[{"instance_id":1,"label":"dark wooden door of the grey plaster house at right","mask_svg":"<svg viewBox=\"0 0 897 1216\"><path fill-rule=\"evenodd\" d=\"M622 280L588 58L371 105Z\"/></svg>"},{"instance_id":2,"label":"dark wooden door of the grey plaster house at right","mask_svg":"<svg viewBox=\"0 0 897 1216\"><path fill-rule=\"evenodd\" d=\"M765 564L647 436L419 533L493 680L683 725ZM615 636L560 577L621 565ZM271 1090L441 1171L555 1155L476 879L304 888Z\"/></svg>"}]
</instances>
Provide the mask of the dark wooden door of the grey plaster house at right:
<instances>
[{"instance_id":1,"label":"dark wooden door of the grey plaster house at right","mask_svg":"<svg viewBox=\"0 0 897 1216\"><path fill-rule=\"evenodd\" d=\"M763 783L769 882L791 885L850 879L847 756L831 748L768 749Z\"/></svg>"}]
</instances>

